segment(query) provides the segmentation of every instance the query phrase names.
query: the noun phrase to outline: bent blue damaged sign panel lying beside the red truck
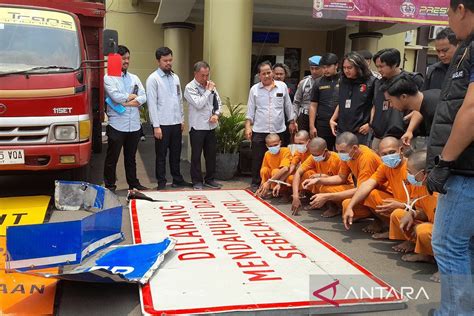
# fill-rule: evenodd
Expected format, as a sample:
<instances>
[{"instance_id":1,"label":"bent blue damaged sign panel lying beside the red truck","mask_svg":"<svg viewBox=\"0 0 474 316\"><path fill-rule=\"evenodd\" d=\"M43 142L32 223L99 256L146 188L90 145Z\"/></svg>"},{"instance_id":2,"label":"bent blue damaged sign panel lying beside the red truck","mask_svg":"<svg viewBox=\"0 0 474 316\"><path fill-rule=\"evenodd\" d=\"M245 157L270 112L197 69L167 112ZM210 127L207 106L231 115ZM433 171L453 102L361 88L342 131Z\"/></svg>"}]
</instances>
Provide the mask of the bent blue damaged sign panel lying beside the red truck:
<instances>
[{"instance_id":1,"label":"bent blue damaged sign panel lying beside the red truck","mask_svg":"<svg viewBox=\"0 0 474 316\"><path fill-rule=\"evenodd\" d=\"M76 221L8 227L9 269L77 264L123 239L122 205L110 191L83 182L57 181L55 201L59 209L83 208L92 214Z\"/></svg>"}]
</instances>

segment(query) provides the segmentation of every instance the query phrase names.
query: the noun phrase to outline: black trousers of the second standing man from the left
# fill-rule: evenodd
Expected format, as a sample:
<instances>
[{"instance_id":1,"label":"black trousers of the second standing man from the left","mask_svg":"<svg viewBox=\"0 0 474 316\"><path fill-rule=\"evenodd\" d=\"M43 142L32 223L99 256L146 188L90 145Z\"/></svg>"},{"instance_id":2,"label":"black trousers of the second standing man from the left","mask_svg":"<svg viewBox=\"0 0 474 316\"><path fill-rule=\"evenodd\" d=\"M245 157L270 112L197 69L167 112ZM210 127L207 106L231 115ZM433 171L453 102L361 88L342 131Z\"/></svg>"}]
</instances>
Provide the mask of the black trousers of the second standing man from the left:
<instances>
[{"instance_id":1,"label":"black trousers of the second standing man from the left","mask_svg":"<svg viewBox=\"0 0 474 316\"><path fill-rule=\"evenodd\" d=\"M169 149L170 171L173 183L181 183L184 181L179 166L181 141L183 138L181 124L161 125L160 127L163 137L161 139L155 138L156 180L158 184L166 184L166 155Z\"/></svg>"}]
</instances>

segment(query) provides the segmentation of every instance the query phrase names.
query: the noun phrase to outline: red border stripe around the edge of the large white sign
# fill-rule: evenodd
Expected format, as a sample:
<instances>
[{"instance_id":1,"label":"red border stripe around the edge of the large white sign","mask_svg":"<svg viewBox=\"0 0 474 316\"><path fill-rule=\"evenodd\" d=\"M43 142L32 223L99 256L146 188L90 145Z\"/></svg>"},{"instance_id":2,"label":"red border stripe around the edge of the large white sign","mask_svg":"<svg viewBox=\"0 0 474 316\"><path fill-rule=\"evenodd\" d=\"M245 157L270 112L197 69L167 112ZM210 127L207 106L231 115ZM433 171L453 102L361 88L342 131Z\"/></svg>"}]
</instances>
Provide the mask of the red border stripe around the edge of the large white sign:
<instances>
[{"instance_id":1,"label":"red border stripe around the edge of the large white sign","mask_svg":"<svg viewBox=\"0 0 474 316\"><path fill-rule=\"evenodd\" d=\"M232 189L232 190L241 190L241 189ZM191 190L189 190L191 191ZM210 190L209 190L210 191ZM298 229L300 229L302 232L307 234L309 237L314 239L315 241L321 243L323 246L328 248L330 251L341 257L342 259L346 260L348 263L352 264L355 268L357 268L359 271L361 271L364 275L372 279L374 282L377 284L385 287L389 293L393 293L394 290L391 290L391 287L374 276L371 272L369 272L367 269L363 268L361 265L359 265L357 262L334 248L331 244L328 242L324 241L323 239L319 238L315 234L313 234L311 231L306 229L305 227L301 226L298 224L296 221L294 221L291 217L288 217L286 214L282 213L266 201L256 197L252 192L249 190L242 190L246 191L248 194L253 196L255 199L259 200L261 203L269 207L271 210L273 210L275 213L286 219L288 222L296 226ZM196 191L191 191L191 192L196 192ZM133 229L133 234L135 238L135 243L141 243L141 235L140 235L140 227L139 227L139 222L138 222L138 214L137 214L137 208L136 208L136 201L132 200L131 201L131 217L132 217L132 229ZM262 309L277 309L277 308L302 308L302 307L311 307L311 306L325 306L325 307L336 307L333 304L330 304L328 302L324 301L304 301L304 302L281 302L281 303L268 303L268 304L247 304L247 305L228 305L228 306L212 306L212 307L202 307L202 308L191 308L191 309L179 309L179 310L162 310L162 311L157 311L153 308L153 298L151 295L151 288L150 284L146 284L141 288L142 291L142 299L143 299L143 307L144 311L148 314L152 315L182 315L182 314L198 314L198 313L212 313L212 312L230 312L230 311L246 311L246 310L262 310ZM347 304L357 304L357 303L386 303L386 302L393 302L393 301L400 301L402 302L402 296L400 294L393 295L386 298L363 298L363 299L347 299L347 300L335 300L335 303L338 305L347 305Z\"/></svg>"}]
</instances>

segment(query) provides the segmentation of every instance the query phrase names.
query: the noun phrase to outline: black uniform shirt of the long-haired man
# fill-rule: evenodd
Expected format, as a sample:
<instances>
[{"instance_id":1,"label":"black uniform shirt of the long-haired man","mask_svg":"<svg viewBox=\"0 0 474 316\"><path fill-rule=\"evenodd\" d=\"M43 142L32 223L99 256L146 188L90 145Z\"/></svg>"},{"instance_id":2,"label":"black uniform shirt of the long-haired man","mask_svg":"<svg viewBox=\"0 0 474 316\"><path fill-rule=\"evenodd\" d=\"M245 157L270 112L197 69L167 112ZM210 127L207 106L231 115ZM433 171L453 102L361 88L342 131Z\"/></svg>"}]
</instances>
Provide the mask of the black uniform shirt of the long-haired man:
<instances>
[{"instance_id":1,"label":"black uniform shirt of the long-haired man","mask_svg":"<svg viewBox=\"0 0 474 316\"><path fill-rule=\"evenodd\" d=\"M359 128L370 121L375 80L374 76L355 80L342 77L339 85L337 132L354 133L359 139L359 144L367 144L368 141L368 135L360 134Z\"/></svg>"}]
</instances>

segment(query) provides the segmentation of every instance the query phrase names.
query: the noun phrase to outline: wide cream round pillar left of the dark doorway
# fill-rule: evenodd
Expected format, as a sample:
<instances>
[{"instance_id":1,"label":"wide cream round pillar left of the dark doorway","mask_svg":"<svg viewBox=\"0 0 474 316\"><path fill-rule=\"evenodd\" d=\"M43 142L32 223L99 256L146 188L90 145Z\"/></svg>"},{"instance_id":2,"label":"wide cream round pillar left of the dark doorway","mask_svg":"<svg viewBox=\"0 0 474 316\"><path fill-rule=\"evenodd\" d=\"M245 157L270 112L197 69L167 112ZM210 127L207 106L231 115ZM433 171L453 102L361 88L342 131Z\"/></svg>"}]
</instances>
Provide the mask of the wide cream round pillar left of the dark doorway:
<instances>
[{"instance_id":1,"label":"wide cream round pillar left of the dark doorway","mask_svg":"<svg viewBox=\"0 0 474 316\"><path fill-rule=\"evenodd\" d=\"M253 0L205 0L204 60L221 97L247 104L252 56Z\"/></svg>"}]
</instances>

